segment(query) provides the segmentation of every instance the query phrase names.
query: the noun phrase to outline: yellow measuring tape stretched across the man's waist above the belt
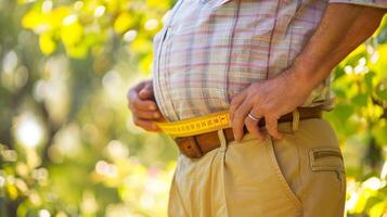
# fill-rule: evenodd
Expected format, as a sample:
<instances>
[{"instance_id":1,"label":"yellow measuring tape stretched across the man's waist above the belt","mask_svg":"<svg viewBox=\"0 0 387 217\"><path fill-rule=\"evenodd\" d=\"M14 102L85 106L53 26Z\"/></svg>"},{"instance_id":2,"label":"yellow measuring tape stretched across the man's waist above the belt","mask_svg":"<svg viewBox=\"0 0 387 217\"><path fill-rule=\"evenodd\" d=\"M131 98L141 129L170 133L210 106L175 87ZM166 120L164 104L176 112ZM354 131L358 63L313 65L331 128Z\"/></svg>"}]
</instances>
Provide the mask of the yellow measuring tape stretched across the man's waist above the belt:
<instances>
[{"instance_id":1,"label":"yellow measuring tape stretched across the man's waist above the belt","mask_svg":"<svg viewBox=\"0 0 387 217\"><path fill-rule=\"evenodd\" d=\"M171 123L155 123L171 137L189 137L231 127L229 111Z\"/></svg>"}]
</instances>

